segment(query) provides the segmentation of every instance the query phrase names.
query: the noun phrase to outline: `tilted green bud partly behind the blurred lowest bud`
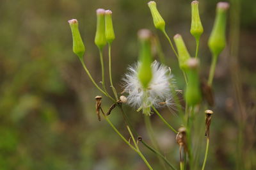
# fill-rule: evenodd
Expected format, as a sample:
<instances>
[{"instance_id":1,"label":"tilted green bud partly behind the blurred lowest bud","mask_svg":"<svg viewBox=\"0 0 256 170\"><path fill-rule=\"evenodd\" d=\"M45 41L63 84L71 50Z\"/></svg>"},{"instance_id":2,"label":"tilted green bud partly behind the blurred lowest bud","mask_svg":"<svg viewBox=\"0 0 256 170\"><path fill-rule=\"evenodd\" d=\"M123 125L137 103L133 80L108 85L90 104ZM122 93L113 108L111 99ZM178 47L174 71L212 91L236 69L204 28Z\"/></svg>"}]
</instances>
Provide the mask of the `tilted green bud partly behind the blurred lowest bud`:
<instances>
[{"instance_id":1,"label":"tilted green bud partly behind the blurred lowest bud","mask_svg":"<svg viewBox=\"0 0 256 170\"><path fill-rule=\"evenodd\" d=\"M179 66L180 69L185 71L187 68L187 61L190 58L188 49L182 39L182 36L177 34L175 36L173 36L175 45L177 47L178 50L178 54L179 54Z\"/></svg>"}]
</instances>

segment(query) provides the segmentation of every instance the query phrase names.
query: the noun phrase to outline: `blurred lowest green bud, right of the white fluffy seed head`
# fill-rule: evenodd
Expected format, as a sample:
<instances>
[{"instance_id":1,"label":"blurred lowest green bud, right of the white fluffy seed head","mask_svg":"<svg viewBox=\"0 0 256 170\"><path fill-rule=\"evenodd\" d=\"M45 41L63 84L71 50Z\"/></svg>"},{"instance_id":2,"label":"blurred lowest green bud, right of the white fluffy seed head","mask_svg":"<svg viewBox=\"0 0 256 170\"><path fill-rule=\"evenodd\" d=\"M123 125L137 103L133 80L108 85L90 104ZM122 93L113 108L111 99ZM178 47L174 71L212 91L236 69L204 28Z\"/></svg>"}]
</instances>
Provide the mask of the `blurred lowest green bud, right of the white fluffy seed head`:
<instances>
[{"instance_id":1,"label":"blurred lowest green bud, right of the white fluffy seed head","mask_svg":"<svg viewBox=\"0 0 256 170\"><path fill-rule=\"evenodd\" d=\"M199 104L202 100L200 90L200 81L198 76L199 61L196 58L190 58L187 62L188 86L186 86L185 99L189 106Z\"/></svg>"}]
</instances>

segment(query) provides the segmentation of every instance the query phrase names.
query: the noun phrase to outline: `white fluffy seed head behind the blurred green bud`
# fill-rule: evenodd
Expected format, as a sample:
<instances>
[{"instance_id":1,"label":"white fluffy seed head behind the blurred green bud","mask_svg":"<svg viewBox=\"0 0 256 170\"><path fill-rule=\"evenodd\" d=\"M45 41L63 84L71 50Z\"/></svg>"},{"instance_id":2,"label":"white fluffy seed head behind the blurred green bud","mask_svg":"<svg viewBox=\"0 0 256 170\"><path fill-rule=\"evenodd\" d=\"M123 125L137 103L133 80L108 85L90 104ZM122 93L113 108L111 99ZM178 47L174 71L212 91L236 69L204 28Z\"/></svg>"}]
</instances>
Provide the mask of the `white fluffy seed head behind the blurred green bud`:
<instances>
[{"instance_id":1,"label":"white fluffy seed head behind the blurred green bud","mask_svg":"<svg viewBox=\"0 0 256 170\"><path fill-rule=\"evenodd\" d=\"M125 74L124 91L128 93L127 104L136 109L150 107L172 107L173 95L171 88L173 79L167 66L154 61L151 65L153 77L147 89L143 89L139 79L137 68L140 63L128 68Z\"/></svg>"}]
</instances>

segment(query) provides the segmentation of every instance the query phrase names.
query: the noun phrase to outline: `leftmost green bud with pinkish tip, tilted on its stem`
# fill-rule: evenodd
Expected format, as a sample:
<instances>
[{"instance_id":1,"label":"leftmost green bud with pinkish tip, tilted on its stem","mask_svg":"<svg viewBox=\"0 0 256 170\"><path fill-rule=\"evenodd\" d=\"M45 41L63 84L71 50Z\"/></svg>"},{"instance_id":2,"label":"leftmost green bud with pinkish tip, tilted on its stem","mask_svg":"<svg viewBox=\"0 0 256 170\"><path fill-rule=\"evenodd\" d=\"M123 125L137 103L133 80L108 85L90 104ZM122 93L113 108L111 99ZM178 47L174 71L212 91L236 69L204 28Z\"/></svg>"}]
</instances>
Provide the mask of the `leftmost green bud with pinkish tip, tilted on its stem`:
<instances>
[{"instance_id":1,"label":"leftmost green bud with pinkish tip, tilted on its stem","mask_svg":"<svg viewBox=\"0 0 256 170\"><path fill-rule=\"evenodd\" d=\"M73 38L73 52L80 58L83 59L85 47L81 35L78 29L78 21L76 19L68 20L72 31Z\"/></svg>"}]
</instances>

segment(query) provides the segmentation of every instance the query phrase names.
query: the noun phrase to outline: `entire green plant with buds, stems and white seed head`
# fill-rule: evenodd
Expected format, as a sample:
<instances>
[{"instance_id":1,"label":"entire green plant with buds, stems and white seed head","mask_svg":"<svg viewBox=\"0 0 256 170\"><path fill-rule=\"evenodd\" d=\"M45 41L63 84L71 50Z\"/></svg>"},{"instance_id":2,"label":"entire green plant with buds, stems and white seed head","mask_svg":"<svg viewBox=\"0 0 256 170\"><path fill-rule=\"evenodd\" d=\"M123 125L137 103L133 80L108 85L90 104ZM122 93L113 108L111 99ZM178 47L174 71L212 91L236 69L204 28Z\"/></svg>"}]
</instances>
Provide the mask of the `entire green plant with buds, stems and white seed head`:
<instances>
[{"instance_id":1,"label":"entire green plant with buds, stems and white seed head","mask_svg":"<svg viewBox=\"0 0 256 170\"><path fill-rule=\"evenodd\" d=\"M195 37L196 40L196 54L195 57L191 57L189 51L182 39L181 35L175 35L173 40L177 47L177 50L173 46L171 38L165 31L165 22L163 17L161 17L160 13L157 10L156 2L150 1L148 3L150 8L150 12L152 13L152 18L154 21L154 26L159 29L168 42L170 43L170 47L173 50L175 56L179 60L179 66L182 72L184 73L184 79L186 81L186 89L184 90L184 98L186 101L185 109L179 109L179 116L182 120L182 125L180 125L179 130L176 130L168 121L166 121L163 116L159 113L157 108L159 107L172 107L173 102L175 104L180 104L179 98L175 97L173 91L176 90L175 84L173 84L173 77L170 69L159 63L157 61L152 62L152 41L153 36L152 33L148 29L141 29L138 32L138 39L140 42L140 54L139 54L139 62L135 66L131 66L128 68L129 72L125 74L124 77L124 92L126 93L126 97L121 95L118 98L118 93L116 92L115 87L113 86L113 81L111 78L111 43L115 40L115 33L113 30L113 23L111 19L112 12L110 10L105 11L104 9L97 10L97 31L95 35L95 45L99 48L100 54L100 64L102 69L102 87L100 87L93 79L89 70L87 69L83 54L85 51L83 41L81 40L81 36L78 30L78 22L76 19L69 20L69 24L72 30L73 36L73 50L74 53L77 54L79 60L81 61L84 70L90 77L93 84L101 91L106 97L113 101L113 105L109 107L109 111L103 111L102 97L97 96L96 99L96 112L100 121L100 115L102 114L105 120L109 123L109 125L113 128L113 130L118 134L121 139L130 147L132 150L136 151L138 155L143 159L148 169L153 169L149 164L147 158L141 152L138 143L141 142L146 148L155 153L157 157L163 159L166 162L166 165L170 167L170 169L176 169L169 160L167 160L161 151L155 146L149 146L143 138L136 132L136 130L132 127L132 123L129 121L127 114L122 109L123 104L129 104L132 107L135 107L137 111L142 111L144 116L150 116L151 114L156 113L159 116L160 120L170 128L175 134L177 134L176 141L179 144L179 153L180 153L180 169L197 169L196 167L196 157L193 152L193 121L195 120L196 114L201 114L201 112L205 111L205 136L206 140L206 149L205 149L205 158L204 163L202 165L202 169L205 168L205 163L207 160L207 154L209 150L209 128L211 125L211 116L212 111L209 110L209 105L204 104L202 102L202 89L200 88L200 79L199 79L199 71L200 71L200 63L198 57L198 48L200 36L204 32L202 27L202 23L200 20L200 15L198 11L198 1L193 1L191 3L191 35ZM207 88L210 89L212 86L212 80L214 76L214 70L216 67L218 56L220 52L225 48L225 22L226 15L228 10L228 3L218 3L216 10L216 20L214 22L214 27L212 29L211 36L209 38L209 48L212 52L212 63L211 70L209 73L209 81L208 84L205 84ZM109 47L109 80L110 85L113 90L113 94L115 97L111 97L108 91L106 90L105 79L104 79L104 59L102 55L102 50L104 46L108 43ZM204 94L205 95L205 94ZM206 94L207 95L207 94ZM210 103L211 105L211 103ZM119 130L113 125L111 120L109 120L108 115L111 113L115 107L120 109L122 115L124 116L124 121L127 125L127 130L131 136L132 143L130 140L125 139L124 135L122 135ZM152 127L150 127L150 119L145 118L148 126L148 134L152 134ZM203 122L201 122L203 124ZM154 141L154 135L151 137L152 141Z\"/></svg>"}]
</instances>

